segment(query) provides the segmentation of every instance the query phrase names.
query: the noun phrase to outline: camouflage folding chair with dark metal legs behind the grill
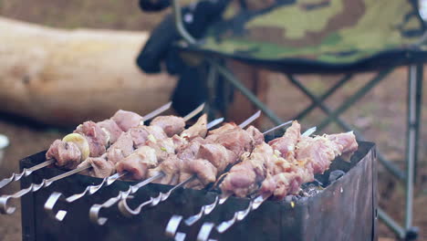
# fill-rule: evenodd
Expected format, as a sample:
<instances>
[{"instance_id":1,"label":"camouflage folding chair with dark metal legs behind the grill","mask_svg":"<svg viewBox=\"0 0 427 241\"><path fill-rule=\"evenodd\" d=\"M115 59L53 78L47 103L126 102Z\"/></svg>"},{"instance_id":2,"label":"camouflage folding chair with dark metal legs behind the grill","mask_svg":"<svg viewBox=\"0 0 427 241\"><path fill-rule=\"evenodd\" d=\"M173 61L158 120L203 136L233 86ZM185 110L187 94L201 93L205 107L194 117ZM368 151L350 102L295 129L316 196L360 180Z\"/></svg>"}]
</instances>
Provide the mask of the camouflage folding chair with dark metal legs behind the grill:
<instances>
[{"instance_id":1,"label":"camouflage folding chair with dark metal legs behind the grill","mask_svg":"<svg viewBox=\"0 0 427 241\"><path fill-rule=\"evenodd\" d=\"M408 67L406 172L377 152L386 169L406 183L404 225L399 225L380 208L378 215L401 239L416 239L418 231L412 226L412 197L420 136L422 63L427 60L427 52L422 45L424 25L417 3L410 0L222 2L226 5L224 10L206 26L203 37L195 39L187 31L186 21L182 21L179 0L172 1L174 22L181 36L181 39L174 40L174 46L181 53L191 53L209 63L207 86L211 90L214 89L215 77L222 76L277 124L281 120L276 114L234 77L222 59L234 59L286 74L290 82L312 101L296 119L300 120L311 110L319 108L328 115L318 124L320 130L336 122L343 130L353 131L354 128L339 116L394 68ZM378 71L378 75L337 109L332 110L324 103L354 74L367 71ZM324 73L346 75L321 96L312 93L295 77L295 74ZM215 95L212 91L211 95ZM355 134L359 140L364 140L359 131Z\"/></svg>"}]
</instances>

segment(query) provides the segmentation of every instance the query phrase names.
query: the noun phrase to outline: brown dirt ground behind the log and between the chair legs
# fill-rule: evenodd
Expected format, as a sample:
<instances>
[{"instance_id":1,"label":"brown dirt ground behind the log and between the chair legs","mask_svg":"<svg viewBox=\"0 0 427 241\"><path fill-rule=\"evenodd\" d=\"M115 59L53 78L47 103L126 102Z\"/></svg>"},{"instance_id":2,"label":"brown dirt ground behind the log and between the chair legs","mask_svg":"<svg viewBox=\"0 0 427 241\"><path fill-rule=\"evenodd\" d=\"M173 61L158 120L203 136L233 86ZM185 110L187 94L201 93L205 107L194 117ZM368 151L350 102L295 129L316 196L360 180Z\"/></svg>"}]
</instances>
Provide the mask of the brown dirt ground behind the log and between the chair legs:
<instances>
[{"instance_id":1,"label":"brown dirt ground behind the log and between the chair legs","mask_svg":"<svg viewBox=\"0 0 427 241\"><path fill-rule=\"evenodd\" d=\"M125 3L125 4L124 4ZM97 27L114 29L150 30L161 19L161 15L142 14L137 7L138 1L114 0L0 0L0 15L29 22L57 27ZM163 13L164 14L164 13ZM426 71L427 72L427 69ZM373 74L363 74L346 85L328 100L331 107L338 107L342 100L372 78ZM268 105L283 120L291 119L297 110L304 109L309 101L293 88L282 76L270 75ZM344 114L344 120L351 122L365 135L367 140L378 144L380 152L393 162L404 167L405 121L406 121L406 87L407 71L400 68L374 88L370 94ZM424 79L427 78L424 77ZM317 93L322 93L328 86L338 80L337 76L305 76L303 81ZM427 85L424 85L424 93ZM422 123L427 122L427 97L424 94ZM309 115L303 124L312 126L324 115L320 110ZM266 123L268 125L268 123ZM339 131L330 125L326 131ZM44 150L49 143L66 133L64 130L34 126L25 121L16 121L9 116L0 115L0 133L6 134L11 146L5 152L5 159L0 163L0 178L17 171L17 163L26 155ZM420 141L418 178L414 199L414 225L422 230L420 240L427 240L427 128L422 126ZM404 189L399 183L380 168L380 206L390 215L403 220ZM0 191L9 194L17 186L10 186ZM380 236L393 239L393 234L384 225L380 225ZM0 240L20 240L20 214L0 215ZM390 240L388 239L388 240ZM385 240L385 239L384 239Z\"/></svg>"}]
</instances>

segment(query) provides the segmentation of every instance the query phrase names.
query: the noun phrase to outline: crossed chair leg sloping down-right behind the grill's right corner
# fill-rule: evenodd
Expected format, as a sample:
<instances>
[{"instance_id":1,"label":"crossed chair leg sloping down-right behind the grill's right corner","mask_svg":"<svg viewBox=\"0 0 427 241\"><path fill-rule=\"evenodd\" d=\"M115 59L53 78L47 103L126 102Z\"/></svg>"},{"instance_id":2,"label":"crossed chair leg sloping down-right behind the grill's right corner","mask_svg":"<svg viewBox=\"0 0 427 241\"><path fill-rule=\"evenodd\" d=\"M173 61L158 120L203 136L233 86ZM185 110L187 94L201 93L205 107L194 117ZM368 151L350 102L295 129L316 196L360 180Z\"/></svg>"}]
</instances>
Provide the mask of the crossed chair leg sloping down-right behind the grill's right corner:
<instances>
[{"instance_id":1,"label":"crossed chair leg sloping down-right behind the grill's right corner","mask_svg":"<svg viewBox=\"0 0 427 241\"><path fill-rule=\"evenodd\" d=\"M302 85L300 83L300 81L298 81L294 76L288 75L287 77L291 81L291 83L294 84L298 89L300 89L304 94L306 94L309 99L311 99L313 102L317 102L318 103L318 107L320 108L320 110L324 111L328 116L333 116L334 115L333 111L330 110L328 108L328 106L323 103L323 100L320 100L317 96L315 96L314 94L312 94L310 92L310 90L307 89L304 85ZM354 130L354 128L352 128L348 123L346 123L345 121L343 121L342 119L340 119L339 115L335 116L333 119L334 119L334 121L337 122L337 124L343 130L345 130L345 131L354 131L354 134L357 136L357 138L360 141L364 141L365 140L365 138L363 137L363 135L359 131ZM401 169L396 164L394 164L393 162L390 162L390 161L386 160L386 158L380 152L377 153L377 157L378 157L378 160L381 162L381 164L384 165L384 167L391 174L393 174L395 177L397 177L401 181L405 180L405 173L403 173L401 171Z\"/></svg>"}]
</instances>

